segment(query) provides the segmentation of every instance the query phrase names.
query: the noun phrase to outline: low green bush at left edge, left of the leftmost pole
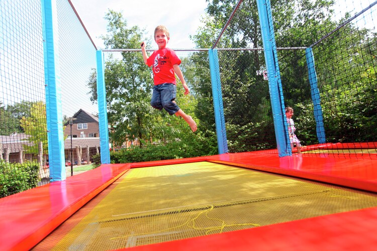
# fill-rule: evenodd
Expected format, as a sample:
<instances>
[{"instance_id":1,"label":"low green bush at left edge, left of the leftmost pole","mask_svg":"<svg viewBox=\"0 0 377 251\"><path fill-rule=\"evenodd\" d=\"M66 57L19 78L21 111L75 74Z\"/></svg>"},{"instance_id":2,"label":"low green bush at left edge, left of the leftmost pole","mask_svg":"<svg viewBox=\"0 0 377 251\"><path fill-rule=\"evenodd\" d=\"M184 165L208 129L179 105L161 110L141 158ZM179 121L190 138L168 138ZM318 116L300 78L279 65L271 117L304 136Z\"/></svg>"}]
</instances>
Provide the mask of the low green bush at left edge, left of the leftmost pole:
<instances>
[{"instance_id":1,"label":"low green bush at left edge, left of the leftmost pole","mask_svg":"<svg viewBox=\"0 0 377 251\"><path fill-rule=\"evenodd\" d=\"M0 161L0 198L38 185L39 164L36 162L6 163Z\"/></svg>"}]
</instances>

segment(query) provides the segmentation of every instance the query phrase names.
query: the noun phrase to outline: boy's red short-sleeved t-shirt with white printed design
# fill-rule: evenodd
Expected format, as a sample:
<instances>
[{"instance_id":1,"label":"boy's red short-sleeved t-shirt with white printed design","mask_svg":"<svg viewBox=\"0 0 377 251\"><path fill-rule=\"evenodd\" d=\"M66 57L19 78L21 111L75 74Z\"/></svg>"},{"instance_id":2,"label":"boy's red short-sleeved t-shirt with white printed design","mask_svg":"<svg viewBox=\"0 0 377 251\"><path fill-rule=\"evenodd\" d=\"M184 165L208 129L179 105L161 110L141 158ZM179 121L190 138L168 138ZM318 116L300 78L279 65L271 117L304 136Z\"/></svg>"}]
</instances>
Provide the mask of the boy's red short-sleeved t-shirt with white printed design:
<instances>
[{"instance_id":1,"label":"boy's red short-sleeved t-shirt with white printed design","mask_svg":"<svg viewBox=\"0 0 377 251\"><path fill-rule=\"evenodd\" d=\"M176 85L173 65L180 65L181 61L175 52L169 48L154 51L147 59L148 66L152 66L154 85L172 83Z\"/></svg>"}]
</instances>

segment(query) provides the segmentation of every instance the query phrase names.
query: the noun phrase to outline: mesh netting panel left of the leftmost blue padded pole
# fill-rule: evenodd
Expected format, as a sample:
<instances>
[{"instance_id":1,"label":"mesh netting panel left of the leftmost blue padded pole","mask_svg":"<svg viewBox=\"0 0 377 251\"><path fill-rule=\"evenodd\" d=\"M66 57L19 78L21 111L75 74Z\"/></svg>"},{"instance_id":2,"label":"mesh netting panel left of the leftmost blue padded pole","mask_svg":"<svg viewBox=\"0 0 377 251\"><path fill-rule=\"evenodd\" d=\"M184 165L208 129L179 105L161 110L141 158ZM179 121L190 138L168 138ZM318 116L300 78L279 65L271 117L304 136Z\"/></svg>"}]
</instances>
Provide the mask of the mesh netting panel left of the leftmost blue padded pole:
<instances>
[{"instance_id":1,"label":"mesh netting panel left of the leftmost blue padded pole","mask_svg":"<svg viewBox=\"0 0 377 251\"><path fill-rule=\"evenodd\" d=\"M0 3L0 197L48 176L39 1ZM30 139L26 141L26 139Z\"/></svg>"}]
</instances>

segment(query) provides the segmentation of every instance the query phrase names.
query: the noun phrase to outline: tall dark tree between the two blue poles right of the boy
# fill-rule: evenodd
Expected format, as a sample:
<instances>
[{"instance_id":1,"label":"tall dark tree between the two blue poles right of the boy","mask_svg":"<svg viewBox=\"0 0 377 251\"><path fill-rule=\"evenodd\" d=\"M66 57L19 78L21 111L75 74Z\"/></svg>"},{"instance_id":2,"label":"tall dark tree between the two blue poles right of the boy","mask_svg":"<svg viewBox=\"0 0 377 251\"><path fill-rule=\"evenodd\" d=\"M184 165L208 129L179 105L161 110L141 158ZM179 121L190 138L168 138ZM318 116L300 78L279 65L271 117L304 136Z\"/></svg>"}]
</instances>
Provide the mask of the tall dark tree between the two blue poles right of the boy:
<instances>
[{"instance_id":1,"label":"tall dark tree between the two blue poles right of the boy","mask_svg":"<svg viewBox=\"0 0 377 251\"><path fill-rule=\"evenodd\" d=\"M193 37L197 46L213 46L220 30L222 30L233 11L236 2L238 1L212 1L209 4L207 8L209 16L203 19L205 24L200 28L198 34ZM257 48L261 45L260 37L256 6L251 5L249 1L244 1L216 47ZM207 41L212 43L209 44ZM237 131L233 131L245 126L256 128L255 124L259 125L258 130L255 130L257 136L262 137L259 141L263 145L263 148L267 147L265 142L270 142L271 140L266 140L263 137L270 137L271 135L273 137L271 133L264 134L263 136L264 132L273 130L272 116L268 116L270 105L264 105L266 101L269 101L268 86L261 78L258 78L254 74L261 67L261 52L258 50L219 50L218 55L229 149L237 151L236 148L240 146L243 150L255 150L255 146L245 147L245 142L250 142L251 138L258 138L255 137L254 132L250 132L252 137L249 134L241 137ZM208 54L201 55L198 53L195 56L194 60L197 62L199 70L205 66L207 67L207 72L200 72L202 81L197 86L197 95L203 97L198 102L201 106L197 109L199 113L198 117L203 118L202 122L207 124L208 128L214 129L213 117L203 113L203 111L207 110L213 111L212 87L208 71ZM202 107L206 108L203 109ZM261 127L263 127L263 130L261 130Z\"/></svg>"}]
</instances>

